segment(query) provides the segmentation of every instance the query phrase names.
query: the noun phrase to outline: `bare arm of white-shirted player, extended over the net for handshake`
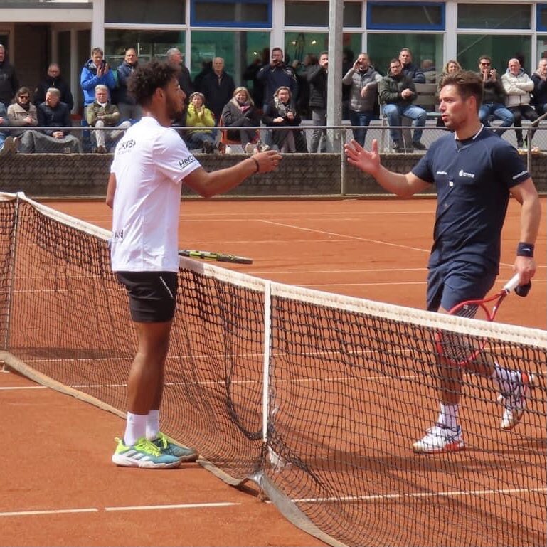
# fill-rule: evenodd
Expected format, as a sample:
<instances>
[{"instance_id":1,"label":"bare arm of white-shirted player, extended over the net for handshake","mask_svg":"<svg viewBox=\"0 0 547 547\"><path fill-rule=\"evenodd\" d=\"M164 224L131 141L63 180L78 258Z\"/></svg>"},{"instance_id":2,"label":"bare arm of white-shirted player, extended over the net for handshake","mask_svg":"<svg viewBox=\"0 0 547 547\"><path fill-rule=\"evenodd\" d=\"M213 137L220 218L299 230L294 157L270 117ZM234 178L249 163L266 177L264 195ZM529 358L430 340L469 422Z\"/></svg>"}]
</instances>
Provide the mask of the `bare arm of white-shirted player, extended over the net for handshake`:
<instances>
[{"instance_id":1,"label":"bare arm of white-shirted player, extended over the net for handshake","mask_svg":"<svg viewBox=\"0 0 547 547\"><path fill-rule=\"evenodd\" d=\"M218 193L224 193L235 188L251 175L274 171L280 161L281 154L279 152L268 150L267 152L253 154L249 159L240 161L240 163L231 167L212 171L211 173L199 167L184 178L184 184L200 196L211 198Z\"/></svg>"}]
</instances>

